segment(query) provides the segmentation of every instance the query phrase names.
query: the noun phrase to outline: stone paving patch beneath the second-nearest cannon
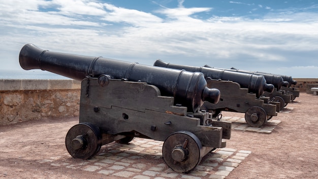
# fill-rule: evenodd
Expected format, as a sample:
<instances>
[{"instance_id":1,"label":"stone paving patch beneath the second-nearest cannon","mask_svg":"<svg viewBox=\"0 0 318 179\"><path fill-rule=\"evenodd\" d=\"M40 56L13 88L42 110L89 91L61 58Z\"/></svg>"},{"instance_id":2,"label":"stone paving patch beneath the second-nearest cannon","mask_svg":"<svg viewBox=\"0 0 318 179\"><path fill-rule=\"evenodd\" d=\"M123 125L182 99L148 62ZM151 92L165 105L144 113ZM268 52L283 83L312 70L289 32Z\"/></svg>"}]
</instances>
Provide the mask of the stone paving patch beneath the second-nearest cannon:
<instances>
[{"instance_id":1,"label":"stone paving patch beneath the second-nearest cannon","mask_svg":"<svg viewBox=\"0 0 318 179\"><path fill-rule=\"evenodd\" d=\"M279 111L279 114L290 113L293 109L294 109L293 107L284 107L281 111ZM275 118L275 116L273 116L273 118ZM281 122L280 120L274 120L273 118L271 120L268 120L263 126L258 128L250 127L246 123L245 118L241 118L241 117L223 116L221 118L221 121L232 122L232 130L270 134L275 129L275 127Z\"/></svg>"}]
</instances>

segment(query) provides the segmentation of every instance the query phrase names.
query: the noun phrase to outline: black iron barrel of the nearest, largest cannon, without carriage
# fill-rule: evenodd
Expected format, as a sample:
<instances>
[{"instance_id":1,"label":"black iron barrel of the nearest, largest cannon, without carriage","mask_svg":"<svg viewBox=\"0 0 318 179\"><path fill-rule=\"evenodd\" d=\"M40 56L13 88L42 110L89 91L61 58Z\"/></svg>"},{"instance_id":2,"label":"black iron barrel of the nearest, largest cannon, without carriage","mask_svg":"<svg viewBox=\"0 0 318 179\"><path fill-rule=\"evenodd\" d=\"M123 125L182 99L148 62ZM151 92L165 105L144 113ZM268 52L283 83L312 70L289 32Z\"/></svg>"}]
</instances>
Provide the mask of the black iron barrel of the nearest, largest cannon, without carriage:
<instances>
[{"instance_id":1,"label":"black iron barrel of the nearest, largest cannon, without carriage","mask_svg":"<svg viewBox=\"0 0 318 179\"><path fill-rule=\"evenodd\" d=\"M24 70L41 69L75 80L106 74L114 79L147 82L158 87L163 96L173 96L174 103L186 106L188 111L197 111L204 101L215 104L220 98L219 90L208 88L204 75L199 72L146 66L103 57L51 52L33 44L22 47L19 62Z\"/></svg>"}]
</instances>

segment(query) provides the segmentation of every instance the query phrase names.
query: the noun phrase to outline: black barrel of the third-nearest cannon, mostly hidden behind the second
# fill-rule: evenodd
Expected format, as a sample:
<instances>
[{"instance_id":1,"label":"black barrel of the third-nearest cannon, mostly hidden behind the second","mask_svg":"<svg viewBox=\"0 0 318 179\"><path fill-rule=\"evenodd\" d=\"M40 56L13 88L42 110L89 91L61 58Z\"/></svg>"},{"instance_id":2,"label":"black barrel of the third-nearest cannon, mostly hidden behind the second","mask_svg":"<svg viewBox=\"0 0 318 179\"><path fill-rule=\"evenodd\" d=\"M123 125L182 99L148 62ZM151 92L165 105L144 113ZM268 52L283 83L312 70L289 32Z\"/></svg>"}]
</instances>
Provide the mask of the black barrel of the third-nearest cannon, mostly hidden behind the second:
<instances>
[{"instance_id":1,"label":"black barrel of the third-nearest cannon, mostly hidden behind the second","mask_svg":"<svg viewBox=\"0 0 318 179\"><path fill-rule=\"evenodd\" d=\"M283 78L279 75L273 75L273 74L265 74L265 73L258 73L258 72L252 72L252 71L247 71L247 70L238 70L238 69L224 69L224 68L214 68L210 67L208 65L205 65L204 67L209 67L213 69L219 69L219 70L227 70L227 71L232 71L232 72L238 72L238 73L246 73L246 74L253 74L253 75L263 75L264 78L266 79L266 82L273 84L275 88L280 90L282 86L287 87L289 85L289 82L284 81Z\"/></svg>"}]
</instances>

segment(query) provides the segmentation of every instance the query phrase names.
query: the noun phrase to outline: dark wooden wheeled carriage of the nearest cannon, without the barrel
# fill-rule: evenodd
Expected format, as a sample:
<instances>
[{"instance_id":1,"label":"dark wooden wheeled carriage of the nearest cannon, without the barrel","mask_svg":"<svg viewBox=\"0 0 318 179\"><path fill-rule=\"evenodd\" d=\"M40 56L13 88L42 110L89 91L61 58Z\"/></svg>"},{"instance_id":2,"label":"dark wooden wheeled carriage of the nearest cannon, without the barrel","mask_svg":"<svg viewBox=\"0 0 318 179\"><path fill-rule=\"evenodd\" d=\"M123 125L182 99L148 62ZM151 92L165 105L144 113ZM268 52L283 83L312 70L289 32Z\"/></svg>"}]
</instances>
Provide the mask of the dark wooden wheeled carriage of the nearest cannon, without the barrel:
<instances>
[{"instance_id":1,"label":"dark wooden wheeled carriage of the nearest cannon, without the barrel","mask_svg":"<svg viewBox=\"0 0 318 179\"><path fill-rule=\"evenodd\" d=\"M151 138L164 141L163 158L170 168L187 172L230 139L231 123L212 120L207 112L188 113L154 85L107 75L85 78L81 85L79 124L66 136L75 158L88 159L113 141Z\"/></svg>"}]
</instances>

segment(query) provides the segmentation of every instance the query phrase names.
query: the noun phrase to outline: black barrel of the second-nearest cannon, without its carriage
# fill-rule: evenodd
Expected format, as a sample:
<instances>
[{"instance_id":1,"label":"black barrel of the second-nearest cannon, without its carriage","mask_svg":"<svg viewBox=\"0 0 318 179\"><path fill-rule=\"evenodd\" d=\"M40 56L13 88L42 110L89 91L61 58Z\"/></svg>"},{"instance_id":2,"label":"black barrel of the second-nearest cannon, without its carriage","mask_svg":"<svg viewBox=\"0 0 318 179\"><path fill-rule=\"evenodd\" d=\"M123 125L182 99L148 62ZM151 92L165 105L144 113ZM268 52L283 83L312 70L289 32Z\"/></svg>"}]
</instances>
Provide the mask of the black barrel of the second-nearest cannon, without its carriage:
<instances>
[{"instance_id":1,"label":"black barrel of the second-nearest cannon, without its carriage","mask_svg":"<svg viewBox=\"0 0 318 179\"><path fill-rule=\"evenodd\" d=\"M257 97L263 95L264 91L271 93L274 90L274 86L272 84L267 84L264 76L262 75L238 73L208 67L176 65L163 62L161 61L161 59L157 59L153 66L179 70L183 69L190 72L202 72L206 78L210 77L212 79L230 80L238 82L241 85L241 87L248 88L248 92L255 93Z\"/></svg>"}]
</instances>

